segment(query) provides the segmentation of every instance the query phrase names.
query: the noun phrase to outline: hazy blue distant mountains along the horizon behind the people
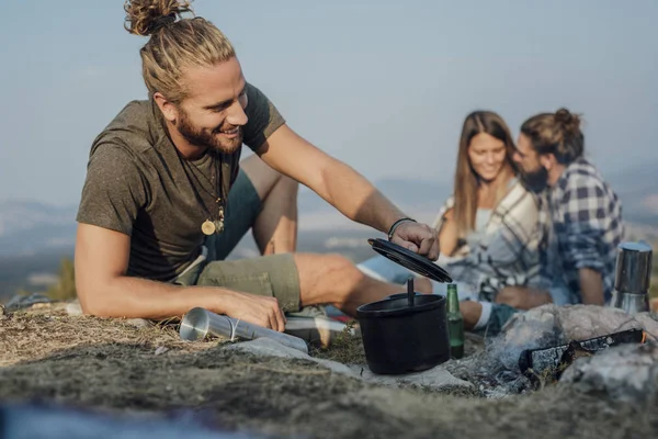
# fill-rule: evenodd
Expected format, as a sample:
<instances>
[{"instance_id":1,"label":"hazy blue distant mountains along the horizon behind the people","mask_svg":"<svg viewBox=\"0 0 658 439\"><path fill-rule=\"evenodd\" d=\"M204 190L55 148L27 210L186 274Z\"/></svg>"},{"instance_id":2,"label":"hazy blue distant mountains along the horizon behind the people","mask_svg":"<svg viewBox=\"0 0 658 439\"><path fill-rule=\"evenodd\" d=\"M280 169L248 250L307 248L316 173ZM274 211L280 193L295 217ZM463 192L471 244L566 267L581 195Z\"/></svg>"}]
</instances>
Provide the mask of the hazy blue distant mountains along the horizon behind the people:
<instances>
[{"instance_id":1,"label":"hazy blue distant mountains along the horizon behind the people","mask_svg":"<svg viewBox=\"0 0 658 439\"><path fill-rule=\"evenodd\" d=\"M658 226L658 162L604 176L620 195L628 222ZM419 221L431 222L452 184L387 178L375 185L397 206ZM342 216L304 188L298 198L302 230L356 230L365 227ZM77 206L57 207L33 201L0 202L0 256L29 256L75 244Z\"/></svg>"}]
</instances>

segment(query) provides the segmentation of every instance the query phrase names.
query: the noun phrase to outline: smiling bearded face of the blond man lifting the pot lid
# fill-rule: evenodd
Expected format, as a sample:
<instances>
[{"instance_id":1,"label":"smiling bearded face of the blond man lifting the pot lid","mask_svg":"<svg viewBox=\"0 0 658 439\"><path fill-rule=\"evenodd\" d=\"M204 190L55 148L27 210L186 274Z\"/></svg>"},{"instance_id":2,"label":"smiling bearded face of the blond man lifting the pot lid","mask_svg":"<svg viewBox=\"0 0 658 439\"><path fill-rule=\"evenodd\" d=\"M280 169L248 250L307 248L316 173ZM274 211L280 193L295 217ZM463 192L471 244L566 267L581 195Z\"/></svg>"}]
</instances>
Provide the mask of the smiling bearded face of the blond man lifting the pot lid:
<instances>
[{"instance_id":1,"label":"smiling bearded face of the blond man lifting the pot lid","mask_svg":"<svg viewBox=\"0 0 658 439\"><path fill-rule=\"evenodd\" d=\"M247 124L247 82L237 58L211 67L190 67L181 78L185 98L163 108L181 137L200 149L235 153Z\"/></svg>"}]
</instances>

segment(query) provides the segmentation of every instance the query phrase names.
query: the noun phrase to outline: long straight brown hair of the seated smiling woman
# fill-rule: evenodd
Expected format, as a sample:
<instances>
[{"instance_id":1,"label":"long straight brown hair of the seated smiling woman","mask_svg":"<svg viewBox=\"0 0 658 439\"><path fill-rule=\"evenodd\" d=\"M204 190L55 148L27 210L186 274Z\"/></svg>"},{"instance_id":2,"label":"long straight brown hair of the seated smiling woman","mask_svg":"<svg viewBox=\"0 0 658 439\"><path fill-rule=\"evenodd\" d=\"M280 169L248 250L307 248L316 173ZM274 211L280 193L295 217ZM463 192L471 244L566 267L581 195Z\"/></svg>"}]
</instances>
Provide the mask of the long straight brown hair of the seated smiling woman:
<instances>
[{"instance_id":1,"label":"long straight brown hair of the seated smiling woman","mask_svg":"<svg viewBox=\"0 0 658 439\"><path fill-rule=\"evenodd\" d=\"M474 111L468 114L462 128L454 182L453 221L455 221L458 236L462 238L475 228L477 190L480 184L480 177L470 166L468 148L473 137L480 133L487 133L504 143L506 158L500 172L509 175L517 175L518 172L512 160L515 150L514 142L502 117L491 111ZM507 189L506 184L499 185L496 204L504 196Z\"/></svg>"}]
</instances>

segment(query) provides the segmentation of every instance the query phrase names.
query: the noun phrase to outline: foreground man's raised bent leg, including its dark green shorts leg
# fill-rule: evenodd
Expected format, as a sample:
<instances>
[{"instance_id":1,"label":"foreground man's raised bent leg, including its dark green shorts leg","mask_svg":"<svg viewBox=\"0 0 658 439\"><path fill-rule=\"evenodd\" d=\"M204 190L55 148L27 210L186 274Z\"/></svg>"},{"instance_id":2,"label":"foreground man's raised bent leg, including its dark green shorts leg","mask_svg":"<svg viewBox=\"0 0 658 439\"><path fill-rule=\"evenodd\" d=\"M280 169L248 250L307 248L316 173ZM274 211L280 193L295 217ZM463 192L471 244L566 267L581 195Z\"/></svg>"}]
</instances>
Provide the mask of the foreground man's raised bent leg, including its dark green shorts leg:
<instances>
[{"instance_id":1,"label":"foreground man's raised bent leg, including its dark green shorts leg","mask_svg":"<svg viewBox=\"0 0 658 439\"><path fill-rule=\"evenodd\" d=\"M297 243L297 182L258 156L240 164L228 194L224 232L207 240L208 259L223 260L251 228L263 255L290 252Z\"/></svg>"}]
</instances>

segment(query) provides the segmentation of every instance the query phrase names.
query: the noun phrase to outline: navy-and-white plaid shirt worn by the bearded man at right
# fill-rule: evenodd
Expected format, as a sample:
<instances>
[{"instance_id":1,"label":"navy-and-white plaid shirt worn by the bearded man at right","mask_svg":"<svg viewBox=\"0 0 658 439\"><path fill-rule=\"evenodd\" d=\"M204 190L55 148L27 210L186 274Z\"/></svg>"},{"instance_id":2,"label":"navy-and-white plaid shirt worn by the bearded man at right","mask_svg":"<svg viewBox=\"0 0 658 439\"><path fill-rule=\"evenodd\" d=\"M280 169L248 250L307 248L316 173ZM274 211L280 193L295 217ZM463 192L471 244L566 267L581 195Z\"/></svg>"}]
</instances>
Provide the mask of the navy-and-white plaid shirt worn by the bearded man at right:
<instances>
[{"instance_id":1,"label":"navy-and-white plaid shirt worn by the bearded man at right","mask_svg":"<svg viewBox=\"0 0 658 439\"><path fill-rule=\"evenodd\" d=\"M542 199L542 278L566 303L581 303L579 269L603 278L605 302L614 285L616 247L624 237L622 205L585 158L570 164Z\"/></svg>"}]
</instances>

